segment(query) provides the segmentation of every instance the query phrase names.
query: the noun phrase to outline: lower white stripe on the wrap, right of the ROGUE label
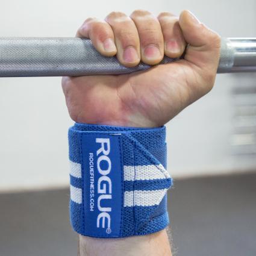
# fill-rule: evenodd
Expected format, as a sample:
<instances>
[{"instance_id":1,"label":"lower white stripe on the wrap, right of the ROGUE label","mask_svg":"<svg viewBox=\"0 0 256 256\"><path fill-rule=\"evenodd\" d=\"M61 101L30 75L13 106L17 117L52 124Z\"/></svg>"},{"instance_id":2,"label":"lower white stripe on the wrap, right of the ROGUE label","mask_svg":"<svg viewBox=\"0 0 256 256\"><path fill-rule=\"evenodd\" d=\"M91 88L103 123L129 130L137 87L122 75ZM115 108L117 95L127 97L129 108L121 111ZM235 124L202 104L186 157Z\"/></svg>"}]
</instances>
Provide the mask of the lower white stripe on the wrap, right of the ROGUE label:
<instances>
[{"instance_id":1,"label":"lower white stripe on the wrap, right of the ROGUE label","mask_svg":"<svg viewBox=\"0 0 256 256\"><path fill-rule=\"evenodd\" d=\"M167 189L125 191L124 207L158 205L164 198Z\"/></svg>"}]
</instances>

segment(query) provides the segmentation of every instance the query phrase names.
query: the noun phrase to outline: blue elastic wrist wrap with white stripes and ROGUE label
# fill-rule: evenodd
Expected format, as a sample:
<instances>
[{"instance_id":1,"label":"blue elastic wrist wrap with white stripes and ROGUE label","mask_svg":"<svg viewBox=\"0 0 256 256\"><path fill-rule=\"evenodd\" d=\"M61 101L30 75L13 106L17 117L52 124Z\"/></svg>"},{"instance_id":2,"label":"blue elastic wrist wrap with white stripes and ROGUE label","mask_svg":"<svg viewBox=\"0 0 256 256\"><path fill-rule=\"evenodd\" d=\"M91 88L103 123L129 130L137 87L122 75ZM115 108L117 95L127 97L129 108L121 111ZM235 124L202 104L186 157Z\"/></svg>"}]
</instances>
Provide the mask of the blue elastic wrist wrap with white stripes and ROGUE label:
<instances>
[{"instance_id":1,"label":"blue elastic wrist wrap with white stripes and ROGUE label","mask_svg":"<svg viewBox=\"0 0 256 256\"><path fill-rule=\"evenodd\" d=\"M77 233L127 237L168 225L165 137L164 126L69 129L70 222Z\"/></svg>"}]
</instances>

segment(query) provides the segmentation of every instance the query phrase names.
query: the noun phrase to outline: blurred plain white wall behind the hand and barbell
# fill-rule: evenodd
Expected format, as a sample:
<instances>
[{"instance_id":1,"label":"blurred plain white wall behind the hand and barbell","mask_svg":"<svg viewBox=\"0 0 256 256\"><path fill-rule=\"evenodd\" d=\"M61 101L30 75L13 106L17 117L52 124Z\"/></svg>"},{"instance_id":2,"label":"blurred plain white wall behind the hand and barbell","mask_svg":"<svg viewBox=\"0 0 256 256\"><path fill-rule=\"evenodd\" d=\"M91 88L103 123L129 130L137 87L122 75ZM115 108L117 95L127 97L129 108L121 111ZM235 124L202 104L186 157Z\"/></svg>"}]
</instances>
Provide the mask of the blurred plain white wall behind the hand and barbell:
<instances>
[{"instance_id":1,"label":"blurred plain white wall behind the hand and barbell","mask_svg":"<svg viewBox=\"0 0 256 256\"><path fill-rule=\"evenodd\" d=\"M104 18L113 10L130 14L137 8L155 14L189 9L223 37L256 36L255 0L4 1L0 36L73 36L89 16ZM209 95L167 125L169 171L174 177L237 170L229 143L234 78L218 75ZM252 76L243 76L249 79ZM1 78L0 122L0 190L68 184L67 128L72 122L60 78ZM243 169L256 165L244 162Z\"/></svg>"}]
</instances>

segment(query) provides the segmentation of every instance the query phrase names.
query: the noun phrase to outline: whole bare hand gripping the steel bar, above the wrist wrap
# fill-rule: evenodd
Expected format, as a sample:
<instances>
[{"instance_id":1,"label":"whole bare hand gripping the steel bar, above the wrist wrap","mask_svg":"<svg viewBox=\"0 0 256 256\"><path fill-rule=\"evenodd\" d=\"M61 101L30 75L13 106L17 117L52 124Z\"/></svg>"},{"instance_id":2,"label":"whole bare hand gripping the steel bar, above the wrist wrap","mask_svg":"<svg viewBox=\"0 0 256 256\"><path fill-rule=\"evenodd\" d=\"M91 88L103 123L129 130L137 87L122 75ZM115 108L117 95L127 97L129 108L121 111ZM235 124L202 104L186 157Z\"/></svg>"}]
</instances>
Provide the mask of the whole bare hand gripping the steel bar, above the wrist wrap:
<instances>
[{"instance_id":1,"label":"whole bare hand gripping the steel bar, above the wrist wrap","mask_svg":"<svg viewBox=\"0 0 256 256\"><path fill-rule=\"evenodd\" d=\"M63 91L75 122L155 127L164 125L213 87L220 37L189 11L180 17L134 11L87 19L78 37L92 40L105 56L125 66L158 64L164 54L184 60L128 75L64 77Z\"/></svg>"}]
</instances>

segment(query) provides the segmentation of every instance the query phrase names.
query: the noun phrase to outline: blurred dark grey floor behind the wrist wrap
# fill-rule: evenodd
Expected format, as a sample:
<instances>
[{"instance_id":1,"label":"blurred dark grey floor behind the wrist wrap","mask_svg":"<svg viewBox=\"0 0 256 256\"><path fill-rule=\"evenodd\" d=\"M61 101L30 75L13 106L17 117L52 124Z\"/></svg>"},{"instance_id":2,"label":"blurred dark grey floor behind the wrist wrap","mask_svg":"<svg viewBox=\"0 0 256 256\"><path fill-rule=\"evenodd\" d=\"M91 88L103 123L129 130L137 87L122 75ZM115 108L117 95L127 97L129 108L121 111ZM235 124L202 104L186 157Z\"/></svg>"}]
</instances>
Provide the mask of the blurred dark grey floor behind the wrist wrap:
<instances>
[{"instance_id":1,"label":"blurred dark grey floor behind the wrist wrap","mask_svg":"<svg viewBox=\"0 0 256 256\"><path fill-rule=\"evenodd\" d=\"M256 173L175 181L169 192L178 256L256 255ZM0 195L0 256L76 255L68 190Z\"/></svg>"}]
</instances>

